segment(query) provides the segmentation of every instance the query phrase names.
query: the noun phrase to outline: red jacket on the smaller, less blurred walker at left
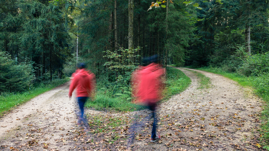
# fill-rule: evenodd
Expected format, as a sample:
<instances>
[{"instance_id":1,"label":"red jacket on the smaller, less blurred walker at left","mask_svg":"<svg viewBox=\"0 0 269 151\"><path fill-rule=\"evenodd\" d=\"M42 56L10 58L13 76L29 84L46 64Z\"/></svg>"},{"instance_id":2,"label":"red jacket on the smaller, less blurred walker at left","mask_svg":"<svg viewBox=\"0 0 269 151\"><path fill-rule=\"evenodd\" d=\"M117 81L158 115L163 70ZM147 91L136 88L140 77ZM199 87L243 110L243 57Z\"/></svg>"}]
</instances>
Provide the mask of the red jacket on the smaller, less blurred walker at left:
<instances>
[{"instance_id":1,"label":"red jacket on the smaller, less blurred walker at left","mask_svg":"<svg viewBox=\"0 0 269 151\"><path fill-rule=\"evenodd\" d=\"M77 97L89 97L93 95L95 89L95 75L85 69L80 69L74 76L69 88L69 96L77 88Z\"/></svg>"}]
</instances>

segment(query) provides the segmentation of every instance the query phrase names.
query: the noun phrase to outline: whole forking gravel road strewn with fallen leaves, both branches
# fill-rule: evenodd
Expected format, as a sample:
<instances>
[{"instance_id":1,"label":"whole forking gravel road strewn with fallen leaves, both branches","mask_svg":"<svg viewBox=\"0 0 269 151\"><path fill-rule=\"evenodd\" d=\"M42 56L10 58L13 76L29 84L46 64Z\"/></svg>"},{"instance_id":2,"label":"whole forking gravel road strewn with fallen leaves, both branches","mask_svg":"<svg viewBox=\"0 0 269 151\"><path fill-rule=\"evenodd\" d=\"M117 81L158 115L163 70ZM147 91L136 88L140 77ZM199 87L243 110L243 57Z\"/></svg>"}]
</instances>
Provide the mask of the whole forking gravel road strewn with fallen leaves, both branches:
<instances>
[{"instance_id":1,"label":"whole forking gravel road strewn with fallen leaves, both branches","mask_svg":"<svg viewBox=\"0 0 269 151\"><path fill-rule=\"evenodd\" d=\"M74 98L68 99L67 83L1 118L0 150L124 151L127 146L132 151L262 150L257 130L263 104L257 96L227 78L204 71L198 72L211 79L212 87L197 89L195 74L178 69L192 84L159 106L158 133L162 138L158 142L150 142L153 121L149 110L113 114L87 110L91 129L84 132L77 127L77 105ZM137 127L135 139L128 144L133 127Z\"/></svg>"}]
</instances>

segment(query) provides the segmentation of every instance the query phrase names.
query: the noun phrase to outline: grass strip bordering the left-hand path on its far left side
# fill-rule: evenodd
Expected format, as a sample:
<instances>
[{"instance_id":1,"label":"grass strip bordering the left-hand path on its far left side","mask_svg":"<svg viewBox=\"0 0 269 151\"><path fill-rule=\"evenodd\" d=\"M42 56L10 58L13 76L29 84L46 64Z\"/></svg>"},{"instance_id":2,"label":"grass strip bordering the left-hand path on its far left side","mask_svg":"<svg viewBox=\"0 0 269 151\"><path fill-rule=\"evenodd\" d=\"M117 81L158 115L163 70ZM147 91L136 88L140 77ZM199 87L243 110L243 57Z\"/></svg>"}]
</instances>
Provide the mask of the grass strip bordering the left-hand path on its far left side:
<instances>
[{"instance_id":1,"label":"grass strip bordering the left-hand path on its far left side","mask_svg":"<svg viewBox=\"0 0 269 151\"><path fill-rule=\"evenodd\" d=\"M21 93L1 93L0 95L0 117L8 113L14 107L23 104L30 99L38 96L39 94L49 91L63 83L69 81L67 79L54 80L52 83L48 82L45 84L40 84L30 91L25 91Z\"/></svg>"}]
</instances>

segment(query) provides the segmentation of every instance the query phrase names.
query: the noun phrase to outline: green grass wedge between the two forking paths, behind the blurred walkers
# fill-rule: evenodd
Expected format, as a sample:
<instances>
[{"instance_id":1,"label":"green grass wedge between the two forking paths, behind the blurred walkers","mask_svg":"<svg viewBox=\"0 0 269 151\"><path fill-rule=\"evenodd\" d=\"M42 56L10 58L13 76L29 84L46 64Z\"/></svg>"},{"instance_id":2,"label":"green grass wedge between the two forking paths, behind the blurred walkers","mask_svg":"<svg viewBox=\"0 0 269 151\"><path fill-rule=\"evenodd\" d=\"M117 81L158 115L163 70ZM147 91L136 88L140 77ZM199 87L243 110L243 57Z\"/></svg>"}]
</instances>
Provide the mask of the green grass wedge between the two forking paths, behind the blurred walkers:
<instances>
[{"instance_id":1,"label":"green grass wedge between the two forking paths, behind the blurred walkers","mask_svg":"<svg viewBox=\"0 0 269 151\"><path fill-rule=\"evenodd\" d=\"M100 80L99 80L100 81ZM164 91L164 100L170 98L172 95L180 93L188 88L191 80L182 71L167 67L166 75L166 89ZM123 93L112 94L115 89L124 89ZM130 88L115 88L99 89L96 93L94 101L88 101L85 105L88 108L95 108L97 110L116 110L116 111L136 111L145 109L144 106L133 104L131 102Z\"/></svg>"}]
</instances>

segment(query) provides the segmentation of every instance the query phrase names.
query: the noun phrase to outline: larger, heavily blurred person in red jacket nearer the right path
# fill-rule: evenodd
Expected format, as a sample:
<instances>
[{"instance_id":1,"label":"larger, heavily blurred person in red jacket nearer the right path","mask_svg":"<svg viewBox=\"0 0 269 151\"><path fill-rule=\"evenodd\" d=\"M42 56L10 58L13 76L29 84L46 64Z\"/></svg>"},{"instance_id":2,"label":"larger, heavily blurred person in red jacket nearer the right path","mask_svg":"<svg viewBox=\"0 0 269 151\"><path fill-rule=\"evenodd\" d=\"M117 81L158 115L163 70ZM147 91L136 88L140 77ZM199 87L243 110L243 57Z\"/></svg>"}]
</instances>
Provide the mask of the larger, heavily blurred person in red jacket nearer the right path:
<instances>
[{"instance_id":1,"label":"larger, heavily blurred person in red jacket nearer the right path","mask_svg":"<svg viewBox=\"0 0 269 151\"><path fill-rule=\"evenodd\" d=\"M147 106L154 118L151 142L156 142L161 137L156 134L156 106L158 100L161 99L163 82L165 77L165 69L157 63L158 56L146 58L143 62L146 66L140 66L132 74L132 90L135 97L134 102Z\"/></svg>"}]
</instances>

